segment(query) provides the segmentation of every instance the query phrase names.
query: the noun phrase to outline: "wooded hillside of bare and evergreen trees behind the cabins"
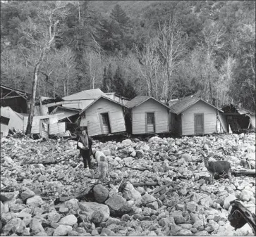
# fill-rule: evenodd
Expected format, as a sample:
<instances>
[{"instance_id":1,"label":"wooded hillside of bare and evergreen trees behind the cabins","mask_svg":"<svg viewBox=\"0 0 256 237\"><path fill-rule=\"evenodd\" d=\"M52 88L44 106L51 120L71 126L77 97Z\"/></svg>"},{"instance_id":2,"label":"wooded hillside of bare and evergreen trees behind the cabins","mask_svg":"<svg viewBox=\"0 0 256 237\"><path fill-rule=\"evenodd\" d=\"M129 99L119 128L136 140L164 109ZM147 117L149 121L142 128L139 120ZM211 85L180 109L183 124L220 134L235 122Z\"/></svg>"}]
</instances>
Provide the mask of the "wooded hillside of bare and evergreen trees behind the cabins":
<instances>
[{"instance_id":1,"label":"wooded hillside of bare and evergreen trees behind the cabins","mask_svg":"<svg viewBox=\"0 0 256 237\"><path fill-rule=\"evenodd\" d=\"M1 84L255 111L255 1L1 1Z\"/></svg>"}]
</instances>

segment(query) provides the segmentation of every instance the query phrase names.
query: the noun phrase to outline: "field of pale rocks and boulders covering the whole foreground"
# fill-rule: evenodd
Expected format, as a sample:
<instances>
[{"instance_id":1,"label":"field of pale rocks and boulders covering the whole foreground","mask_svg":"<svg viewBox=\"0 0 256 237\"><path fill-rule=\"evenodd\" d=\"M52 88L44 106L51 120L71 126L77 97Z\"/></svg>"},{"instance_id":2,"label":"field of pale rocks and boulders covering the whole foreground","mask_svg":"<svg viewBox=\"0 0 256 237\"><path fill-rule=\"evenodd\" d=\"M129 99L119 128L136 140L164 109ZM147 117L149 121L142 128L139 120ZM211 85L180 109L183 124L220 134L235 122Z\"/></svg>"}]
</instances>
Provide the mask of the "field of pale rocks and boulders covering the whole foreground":
<instances>
[{"instance_id":1,"label":"field of pale rocks and boulders covering the whole foreground","mask_svg":"<svg viewBox=\"0 0 256 237\"><path fill-rule=\"evenodd\" d=\"M75 141L1 139L1 236L253 235L248 224L235 231L227 217L236 198L255 213L255 177L209 184L200 151L232 170L246 159L253 166L255 133L132 140L94 142L109 161L100 184L95 160L90 171L76 167ZM118 192L122 179L128 183ZM157 185L135 186L149 182ZM91 200L58 199L89 186Z\"/></svg>"}]
</instances>

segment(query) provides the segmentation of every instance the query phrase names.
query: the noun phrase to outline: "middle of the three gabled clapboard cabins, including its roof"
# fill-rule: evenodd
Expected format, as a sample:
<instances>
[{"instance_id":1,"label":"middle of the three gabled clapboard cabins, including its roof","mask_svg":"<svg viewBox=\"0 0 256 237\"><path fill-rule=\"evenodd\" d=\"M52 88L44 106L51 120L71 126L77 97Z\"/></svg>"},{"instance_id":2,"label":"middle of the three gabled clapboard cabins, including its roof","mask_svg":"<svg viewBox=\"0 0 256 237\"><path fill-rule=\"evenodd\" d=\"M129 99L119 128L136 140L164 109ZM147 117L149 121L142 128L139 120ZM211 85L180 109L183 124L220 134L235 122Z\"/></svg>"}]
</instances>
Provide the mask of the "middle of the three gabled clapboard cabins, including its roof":
<instances>
[{"instance_id":1,"label":"middle of the three gabled clapboard cabins, including its roof","mask_svg":"<svg viewBox=\"0 0 256 237\"><path fill-rule=\"evenodd\" d=\"M132 134L161 134L170 129L170 108L151 96L136 96L126 103Z\"/></svg>"}]
</instances>

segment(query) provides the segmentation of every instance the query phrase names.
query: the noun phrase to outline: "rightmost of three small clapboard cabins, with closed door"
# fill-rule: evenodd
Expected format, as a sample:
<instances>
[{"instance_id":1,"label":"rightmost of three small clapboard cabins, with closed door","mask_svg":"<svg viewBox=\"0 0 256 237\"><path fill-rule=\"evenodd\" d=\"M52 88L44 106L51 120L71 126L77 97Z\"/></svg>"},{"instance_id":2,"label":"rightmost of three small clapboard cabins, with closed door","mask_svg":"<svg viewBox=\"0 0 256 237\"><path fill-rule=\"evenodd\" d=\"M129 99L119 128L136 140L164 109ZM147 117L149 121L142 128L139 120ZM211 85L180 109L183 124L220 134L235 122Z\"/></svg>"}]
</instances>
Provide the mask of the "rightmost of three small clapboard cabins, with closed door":
<instances>
[{"instance_id":1,"label":"rightmost of three small clapboard cabins, with closed door","mask_svg":"<svg viewBox=\"0 0 256 237\"><path fill-rule=\"evenodd\" d=\"M188 96L171 107L171 130L178 136L217 132L217 116L222 110L196 96Z\"/></svg>"}]
</instances>

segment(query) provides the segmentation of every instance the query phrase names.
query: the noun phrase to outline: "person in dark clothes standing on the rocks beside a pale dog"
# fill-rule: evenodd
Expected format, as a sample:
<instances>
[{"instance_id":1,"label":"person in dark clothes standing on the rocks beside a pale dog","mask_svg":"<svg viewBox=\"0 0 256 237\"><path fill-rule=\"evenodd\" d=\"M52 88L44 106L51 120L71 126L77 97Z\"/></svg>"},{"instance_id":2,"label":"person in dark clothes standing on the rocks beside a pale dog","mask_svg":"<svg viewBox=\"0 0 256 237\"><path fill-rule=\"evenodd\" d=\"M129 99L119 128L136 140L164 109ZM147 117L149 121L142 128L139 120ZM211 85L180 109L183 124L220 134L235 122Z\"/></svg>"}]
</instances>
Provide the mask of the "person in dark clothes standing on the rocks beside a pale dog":
<instances>
[{"instance_id":1,"label":"person in dark clothes standing on the rocks beside a pale dog","mask_svg":"<svg viewBox=\"0 0 256 237\"><path fill-rule=\"evenodd\" d=\"M80 150L80 157L83 158L84 168L91 169L92 139L87 135L86 131L82 131L82 135L78 139L77 148Z\"/></svg>"}]
</instances>

